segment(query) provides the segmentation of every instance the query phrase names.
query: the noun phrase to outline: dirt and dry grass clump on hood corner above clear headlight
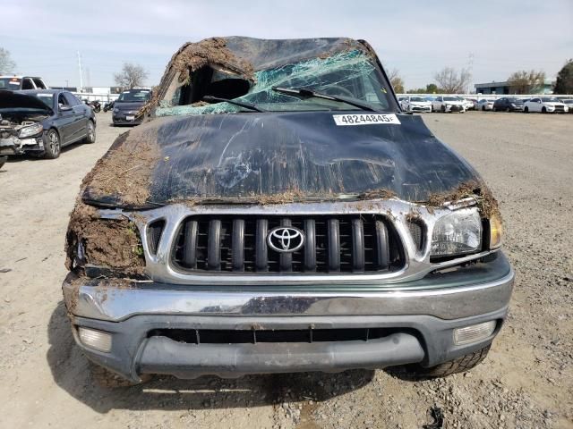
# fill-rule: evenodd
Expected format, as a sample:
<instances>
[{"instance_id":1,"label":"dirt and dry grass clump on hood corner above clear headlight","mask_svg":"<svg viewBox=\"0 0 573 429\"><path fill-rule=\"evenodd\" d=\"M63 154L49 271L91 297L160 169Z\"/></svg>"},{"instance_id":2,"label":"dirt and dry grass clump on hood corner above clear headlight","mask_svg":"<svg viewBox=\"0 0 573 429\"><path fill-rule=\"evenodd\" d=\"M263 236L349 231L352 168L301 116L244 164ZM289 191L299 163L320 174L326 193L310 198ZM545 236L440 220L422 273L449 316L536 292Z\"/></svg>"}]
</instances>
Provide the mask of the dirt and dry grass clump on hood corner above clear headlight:
<instances>
[{"instance_id":1,"label":"dirt and dry grass clump on hood corner above clear headlight","mask_svg":"<svg viewBox=\"0 0 573 429\"><path fill-rule=\"evenodd\" d=\"M428 211L432 213L432 208L434 207L441 207L449 202L456 203L464 198L475 198L483 218L491 218L493 215L496 215L501 219L498 202L483 181L466 181L456 189L432 194L425 201L425 204L428 207Z\"/></svg>"}]
</instances>

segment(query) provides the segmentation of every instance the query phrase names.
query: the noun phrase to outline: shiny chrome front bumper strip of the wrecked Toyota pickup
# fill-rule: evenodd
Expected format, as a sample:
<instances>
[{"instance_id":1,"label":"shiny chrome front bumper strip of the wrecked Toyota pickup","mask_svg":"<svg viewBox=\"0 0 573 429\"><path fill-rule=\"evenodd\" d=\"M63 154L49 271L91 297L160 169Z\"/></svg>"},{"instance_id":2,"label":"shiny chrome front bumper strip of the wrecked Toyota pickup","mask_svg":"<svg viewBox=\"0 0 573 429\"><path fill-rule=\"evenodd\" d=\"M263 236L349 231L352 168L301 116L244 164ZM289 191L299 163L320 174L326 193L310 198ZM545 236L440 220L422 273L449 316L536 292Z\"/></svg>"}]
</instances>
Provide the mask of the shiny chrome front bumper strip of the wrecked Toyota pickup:
<instances>
[{"instance_id":1,"label":"shiny chrome front bumper strip of the wrecked Toyota pickup","mask_svg":"<svg viewBox=\"0 0 573 429\"><path fill-rule=\"evenodd\" d=\"M495 261L437 273L394 288L193 287L158 282L115 286L113 280L63 284L66 306L81 317L122 321L133 315L432 315L456 319L506 307L514 272Z\"/></svg>"}]
</instances>

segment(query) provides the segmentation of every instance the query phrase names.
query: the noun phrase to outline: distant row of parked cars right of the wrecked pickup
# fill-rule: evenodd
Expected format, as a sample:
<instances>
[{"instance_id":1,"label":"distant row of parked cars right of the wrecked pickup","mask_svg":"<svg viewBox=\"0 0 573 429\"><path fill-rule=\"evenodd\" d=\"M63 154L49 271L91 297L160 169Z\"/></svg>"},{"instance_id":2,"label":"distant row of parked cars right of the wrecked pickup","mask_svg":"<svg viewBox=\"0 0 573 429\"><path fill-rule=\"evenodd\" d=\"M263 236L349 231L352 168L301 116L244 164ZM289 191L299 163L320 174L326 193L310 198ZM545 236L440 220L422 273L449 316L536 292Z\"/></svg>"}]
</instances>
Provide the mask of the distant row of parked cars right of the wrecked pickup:
<instances>
[{"instance_id":1,"label":"distant row of parked cars right of the wrecked pickup","mask_svg":"<svg viewBox=\"0 0 573 429\"><path fill-rule=\"evenodd\" d=\"M557 98L551 96L520 98L520 97L483 97L480 99L459 96L401 96L398 97L400 108L408 113L413 112L442 112L463 114L467 110L483 112L538 112L542 114L573 114L573 97Z\"/></svg>"}]
</instances>

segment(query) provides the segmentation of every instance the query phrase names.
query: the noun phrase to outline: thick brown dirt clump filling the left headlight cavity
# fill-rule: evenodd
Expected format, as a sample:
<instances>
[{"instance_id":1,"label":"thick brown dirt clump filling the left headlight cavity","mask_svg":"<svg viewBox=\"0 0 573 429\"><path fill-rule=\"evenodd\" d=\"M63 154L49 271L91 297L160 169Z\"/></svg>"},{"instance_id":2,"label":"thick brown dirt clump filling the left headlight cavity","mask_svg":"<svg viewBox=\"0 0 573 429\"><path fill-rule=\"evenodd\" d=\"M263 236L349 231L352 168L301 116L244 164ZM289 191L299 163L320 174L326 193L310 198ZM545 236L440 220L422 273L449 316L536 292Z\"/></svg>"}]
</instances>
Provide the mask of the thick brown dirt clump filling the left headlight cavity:
<instances>
[{"instance_id":1,"label":"thick brown dirt clump filling the left headlight cavity","mask_svg":"<svg viewBox=\"0 0 573 429\"><path fill-rule=\"evenodd\" d=\"M82 252L77 250L78 247ZM127 218L101 219L97 208L82 202L76 204L71 214L65 253L68 270L90 264L140 275L145 266L141 238L135 224Z\"/></svg>"}]
</instances>

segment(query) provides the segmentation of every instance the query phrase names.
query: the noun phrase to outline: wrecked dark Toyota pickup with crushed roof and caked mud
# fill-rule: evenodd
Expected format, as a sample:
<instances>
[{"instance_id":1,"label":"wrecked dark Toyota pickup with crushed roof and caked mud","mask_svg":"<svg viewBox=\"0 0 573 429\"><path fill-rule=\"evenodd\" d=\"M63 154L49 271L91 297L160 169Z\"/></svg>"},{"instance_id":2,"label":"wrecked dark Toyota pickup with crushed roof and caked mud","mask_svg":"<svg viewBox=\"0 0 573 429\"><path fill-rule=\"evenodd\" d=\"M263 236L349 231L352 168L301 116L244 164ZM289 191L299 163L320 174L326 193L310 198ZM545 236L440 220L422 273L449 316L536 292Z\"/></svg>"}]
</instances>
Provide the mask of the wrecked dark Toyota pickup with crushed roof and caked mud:
<instances>
[{"instance_id":1,"label":"wrecked dark Toyota pickup with crushed roof and caked mud","mask_svg":"<svg viewBox=\"0 0 573 429\"><path fill-rule=\"evenodd\" d=\"M189 43L144 113L66 238L65 304L101 381L434 377L486 356L514 279L497 203L400 112L366 42Z\"/></svg>"}]
</instances>

